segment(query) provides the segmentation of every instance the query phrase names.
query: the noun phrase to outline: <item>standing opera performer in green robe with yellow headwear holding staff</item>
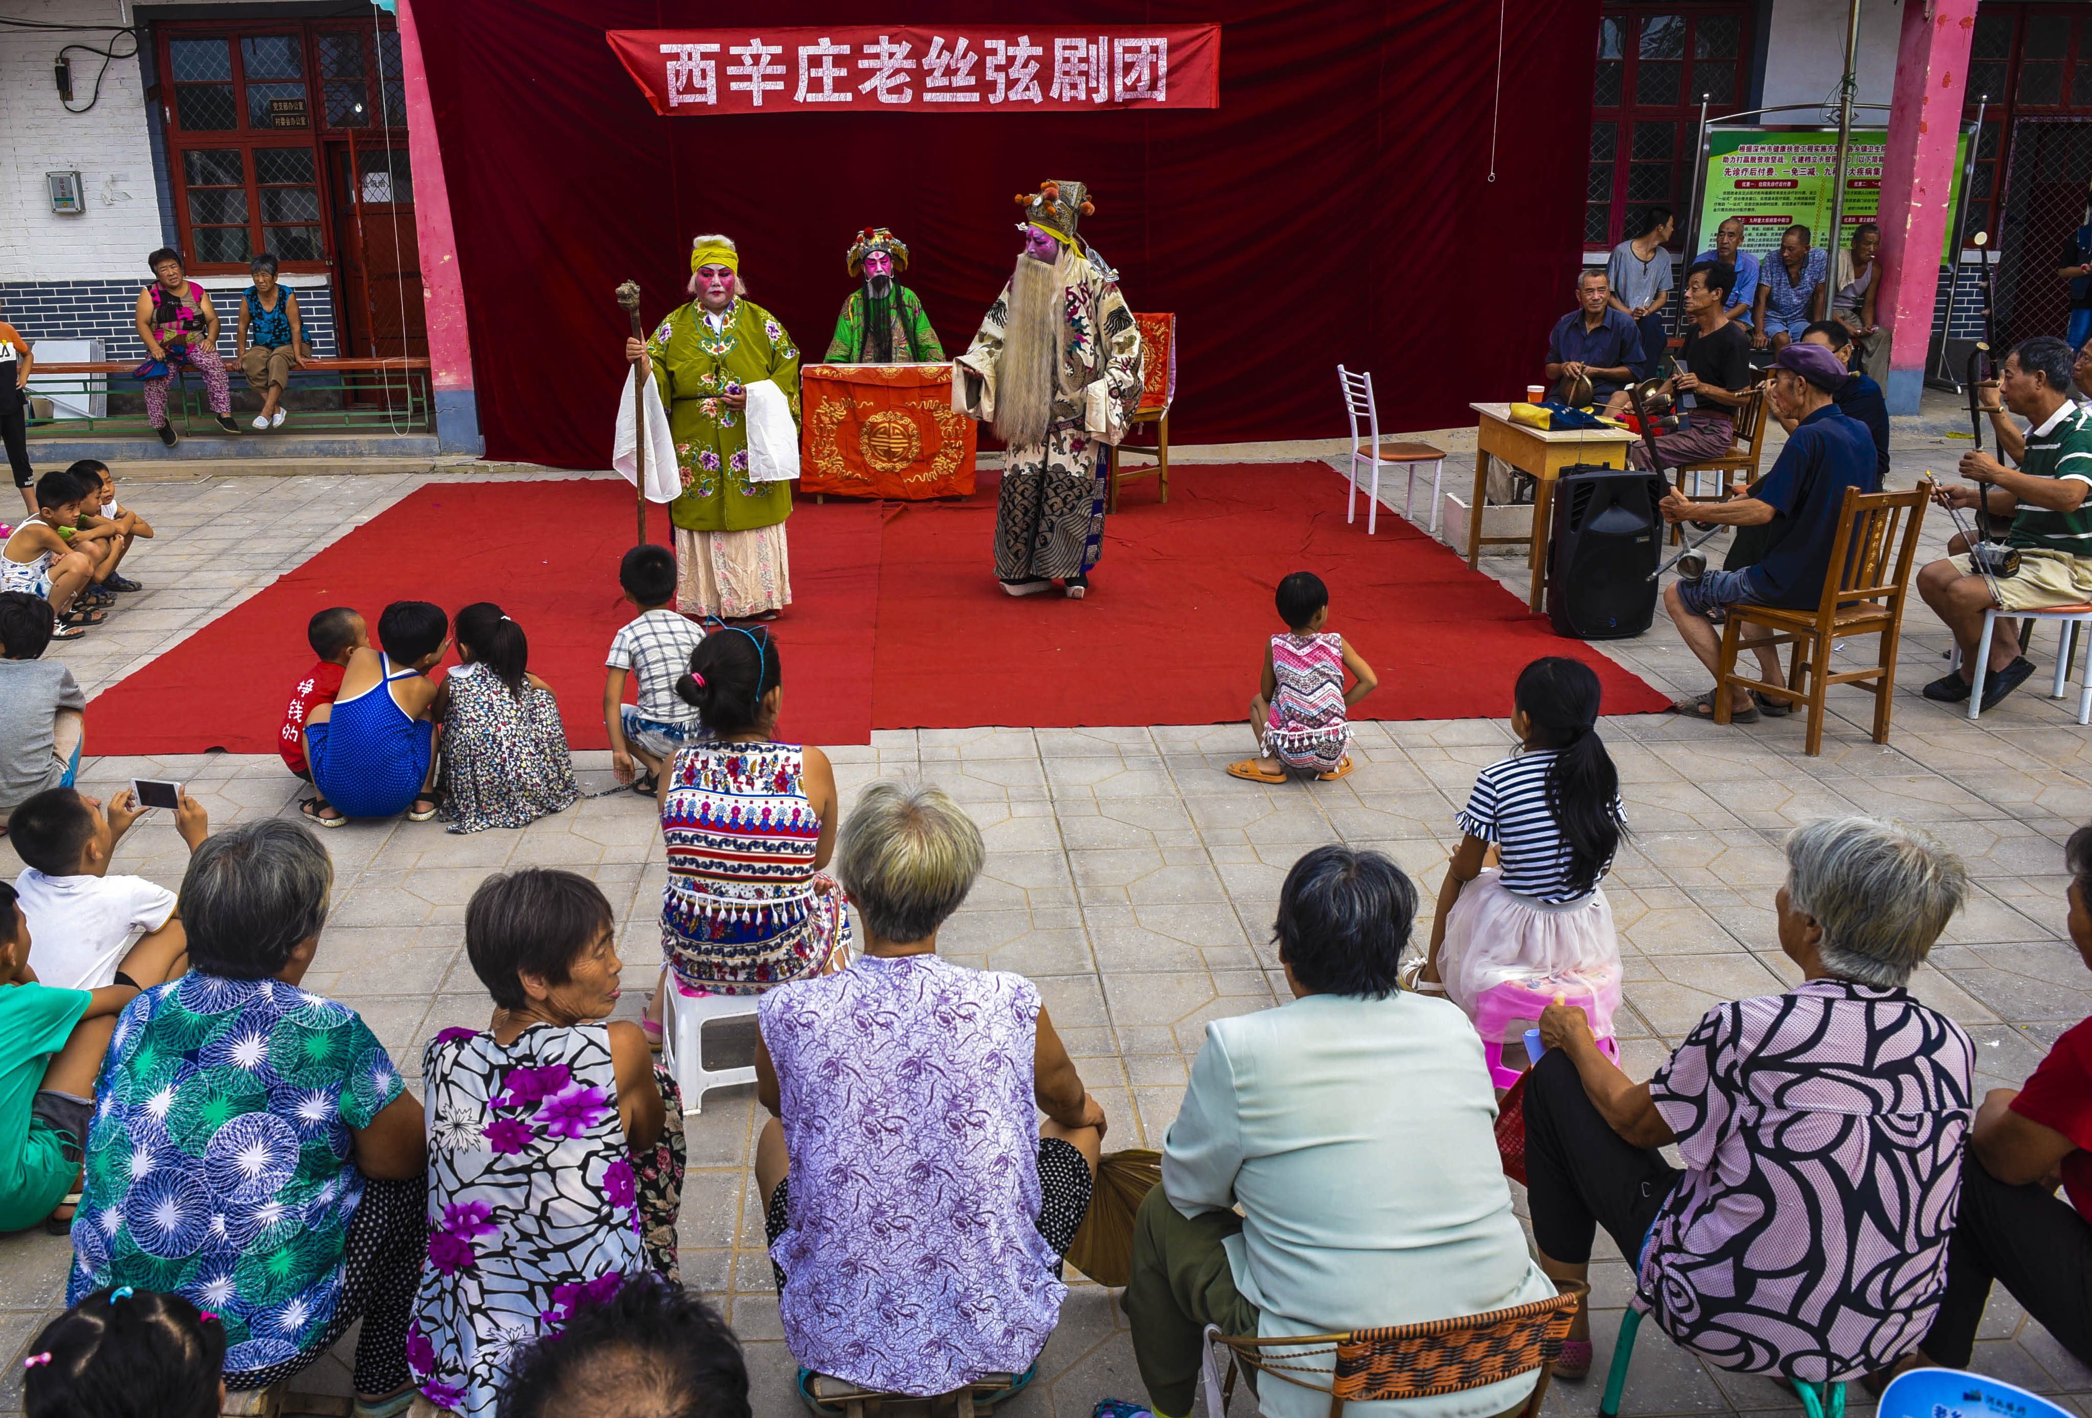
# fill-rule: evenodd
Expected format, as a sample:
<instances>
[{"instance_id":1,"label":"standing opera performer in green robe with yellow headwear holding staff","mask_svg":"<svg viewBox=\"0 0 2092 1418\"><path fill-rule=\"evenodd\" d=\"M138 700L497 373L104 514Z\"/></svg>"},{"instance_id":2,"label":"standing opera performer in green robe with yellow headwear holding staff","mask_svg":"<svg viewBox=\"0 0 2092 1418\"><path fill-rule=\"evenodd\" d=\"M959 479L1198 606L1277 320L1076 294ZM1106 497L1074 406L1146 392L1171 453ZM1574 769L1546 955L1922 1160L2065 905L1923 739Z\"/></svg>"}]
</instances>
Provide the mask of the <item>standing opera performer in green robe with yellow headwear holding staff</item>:
<instances>
[{"instance_id":1,"label":"standing opera performer in green robe with yellow headwear holding staff","mask_svg":"<svg viewBox=\"0 0 2092 1418\"><path fill-rule=\"evenodd\" d=\"M784 519L797 475L799 347L747 297L741 251L726 236L690 243L688 289L690 303L649 341L626 341L626 358L653 376L676 448L676 607L728 621L774 619L791 604ZM776 393L755 389L751 408L751 387L764 381ZM751 418L759 439L768 431L791 443L791 473L778 481L751 468Z\"/></svg>"}]
</instances>

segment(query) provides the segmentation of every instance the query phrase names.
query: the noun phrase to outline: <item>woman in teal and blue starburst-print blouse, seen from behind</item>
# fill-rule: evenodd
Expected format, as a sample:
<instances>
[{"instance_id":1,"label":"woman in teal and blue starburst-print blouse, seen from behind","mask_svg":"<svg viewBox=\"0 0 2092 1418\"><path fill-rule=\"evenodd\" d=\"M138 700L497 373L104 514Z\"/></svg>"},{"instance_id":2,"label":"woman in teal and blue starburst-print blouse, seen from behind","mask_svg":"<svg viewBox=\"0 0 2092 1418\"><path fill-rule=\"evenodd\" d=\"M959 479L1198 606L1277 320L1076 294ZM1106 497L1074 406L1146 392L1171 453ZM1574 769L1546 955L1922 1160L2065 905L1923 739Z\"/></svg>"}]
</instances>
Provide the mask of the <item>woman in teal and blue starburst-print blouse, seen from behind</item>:
<instances>
[{"instance_id":1,"label":"woman in teal and blue starburst-print blouse, seen from behind","mask_svg":"<svg viewBox=\"0 0 2092 1418\"><path fill-rule=\"evenodd\" d=\"M291 1378L362 1316L356 1414L391 1418L412 1399L423 1119L356 1010L299 989L333 880L318 839L276 818L190 855L190 973L117 1019L67 1303L180 1293L226 1326L234 1391Z\"/></svg>"}]
</instances>

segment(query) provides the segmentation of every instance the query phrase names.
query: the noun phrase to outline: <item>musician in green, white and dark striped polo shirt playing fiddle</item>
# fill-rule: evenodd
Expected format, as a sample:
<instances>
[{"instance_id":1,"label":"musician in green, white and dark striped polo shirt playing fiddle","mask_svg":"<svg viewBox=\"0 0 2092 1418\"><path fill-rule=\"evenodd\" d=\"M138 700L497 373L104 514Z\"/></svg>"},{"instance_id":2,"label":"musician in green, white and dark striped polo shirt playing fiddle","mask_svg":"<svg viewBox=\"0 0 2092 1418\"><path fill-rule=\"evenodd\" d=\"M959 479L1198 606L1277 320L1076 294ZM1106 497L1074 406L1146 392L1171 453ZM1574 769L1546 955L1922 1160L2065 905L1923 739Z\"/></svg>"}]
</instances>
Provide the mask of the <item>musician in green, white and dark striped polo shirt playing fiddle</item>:
<instances>
[{"instance_id":1,"label":"musician in green, white and dark striped polo shirt playing fiddle","mask_svg":"<svg viewBox=\"0 0 2092 1418\"><path fill-rule=\"evenodd\" d=\"M1975 573L1966 554L1946 556L1918 571L1925 598L1960 646L1960 669L1925 686L1927 699L1962 703L1975 678L1975 650L1983 638L1983 611L2040 611L2092 600L2092 412L2071 399L2071 347L2038 335L2004 358L2000 395L2025 418L2027 452L2015 473L1989 454L1962 454L1960 473L1973 487L1941 487L1939 500L1992 517L2010 517L2006 546L2019 550L2019 573L1998 577L1998 590ZM1989 642L1983 709L2017 690L2033 663L2019 653L2019 625L2000 615Z\"/></svg>"}]
</instances>

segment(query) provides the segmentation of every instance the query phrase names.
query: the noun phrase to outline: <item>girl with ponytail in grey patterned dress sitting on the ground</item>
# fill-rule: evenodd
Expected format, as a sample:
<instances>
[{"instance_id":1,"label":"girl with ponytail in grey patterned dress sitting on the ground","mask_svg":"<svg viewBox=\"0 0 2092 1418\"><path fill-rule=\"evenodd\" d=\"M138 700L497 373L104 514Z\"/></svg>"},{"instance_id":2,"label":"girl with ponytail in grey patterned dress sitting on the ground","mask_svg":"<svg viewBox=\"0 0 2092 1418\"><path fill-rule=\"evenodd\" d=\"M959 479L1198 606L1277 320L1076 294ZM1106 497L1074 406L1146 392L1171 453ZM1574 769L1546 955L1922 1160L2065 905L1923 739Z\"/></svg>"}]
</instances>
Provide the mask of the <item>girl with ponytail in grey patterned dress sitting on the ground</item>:
<instances>
[{"instance_id":1,"label":"girl with ponytail in grey patterned dress sitting on the ground","mask_svg":"<svg viewBox=\"0 0 2092 1418\"><path fill-rule=\"evenodd\" d=\"M529 638L490 600L452 621L456 669L444 676L437 719L444 768L437 809L452 832L527 826L571 807L573 757L559 701L529 673Z\"/></svg>"}]
</instances>

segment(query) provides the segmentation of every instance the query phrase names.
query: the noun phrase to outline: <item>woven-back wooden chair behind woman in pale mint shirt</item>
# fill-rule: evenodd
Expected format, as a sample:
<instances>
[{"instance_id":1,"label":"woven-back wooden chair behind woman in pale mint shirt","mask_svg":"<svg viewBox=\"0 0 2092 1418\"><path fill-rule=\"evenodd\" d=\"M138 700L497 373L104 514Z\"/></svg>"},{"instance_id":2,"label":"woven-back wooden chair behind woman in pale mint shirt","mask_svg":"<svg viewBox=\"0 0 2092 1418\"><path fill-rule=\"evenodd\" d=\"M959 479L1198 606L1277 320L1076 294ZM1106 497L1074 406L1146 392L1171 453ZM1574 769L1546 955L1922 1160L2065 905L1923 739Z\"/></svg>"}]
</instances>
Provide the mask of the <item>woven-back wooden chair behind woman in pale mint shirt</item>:
<instances>
[{"instance_id":1,"label":"woven-back wooden chair behind woman in pale mint shirt","mask_svg":"<svg viewBox=\"0 0 2092 1418\"><path fill-rule=\"evenodd\" d=\"M1247 1364L1268 1378L1326 1393L1328 1418L1341 1418L1345 1403L1462 1393L1540 1370L1531 1397L1517 1410L1523 1418L1538 1418L1548 1380L1554 1376L1554 1359L1561 1357L1563 1341L1569 1336L1569 1322L1588 1295L1588 1286L1577 1280L1567 1280L1563 1286L1563 1293L1552 1299L1510 1309L1492 1309L1462 1320L1345 1330L1343 1334L1249 1339L1222 1334L1207 1326L1207 1341L1211 1341L1205 1353L1209 1414L1222 1418L1228 1412L1234 1376ZM1213 1345L1228 1353L1226 1389L1213 1372ZM1301 1364L1305 1357L1322 1355L1335 1355L1335 1368Z\"/></svg>"}]
</instances>

